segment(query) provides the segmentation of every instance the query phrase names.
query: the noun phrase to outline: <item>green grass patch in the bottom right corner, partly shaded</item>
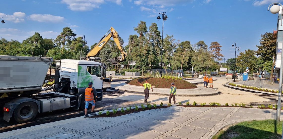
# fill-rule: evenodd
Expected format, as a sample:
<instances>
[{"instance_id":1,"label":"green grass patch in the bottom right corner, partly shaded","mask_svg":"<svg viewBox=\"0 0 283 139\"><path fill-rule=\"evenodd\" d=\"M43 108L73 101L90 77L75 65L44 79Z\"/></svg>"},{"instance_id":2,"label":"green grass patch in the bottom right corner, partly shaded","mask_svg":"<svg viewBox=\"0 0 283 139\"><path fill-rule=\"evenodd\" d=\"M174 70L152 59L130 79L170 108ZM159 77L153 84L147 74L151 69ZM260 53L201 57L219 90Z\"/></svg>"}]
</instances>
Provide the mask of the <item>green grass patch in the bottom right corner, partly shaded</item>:
<instances>
[{"instance_id":1,"label":"green grass patch in the bottom right corner, partly shaded","mask_svg":"<svg viewBox=\"0 0 283 139\"><path fill-rule=\"evenodd\" d=\"M241 122L229 127L226 131L220 130L212 139L260 139L260 138L281 138L282 121L276 120L253 120Z\"/></svg>"}]
</instances>

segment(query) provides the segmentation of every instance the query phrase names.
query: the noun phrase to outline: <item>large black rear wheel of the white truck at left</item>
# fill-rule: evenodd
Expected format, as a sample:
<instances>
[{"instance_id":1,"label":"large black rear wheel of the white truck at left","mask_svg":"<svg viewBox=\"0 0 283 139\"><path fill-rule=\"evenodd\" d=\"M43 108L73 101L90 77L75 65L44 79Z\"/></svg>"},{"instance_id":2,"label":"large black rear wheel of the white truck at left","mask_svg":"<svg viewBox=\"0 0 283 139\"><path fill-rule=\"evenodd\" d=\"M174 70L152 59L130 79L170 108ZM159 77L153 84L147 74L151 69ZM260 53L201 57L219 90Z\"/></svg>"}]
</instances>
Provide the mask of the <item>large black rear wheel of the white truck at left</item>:
<instances>
[{"instance_id":1,"label":"large black rear wheel of the white truck at left","mask_svg":"<svg viewBox=\"0 0 283 139\"><path fill-rule=\"evenodd\" d=\"M24 102L19 104L14 110L14 119L18 123L32 121L38 113L38 107L35 102Z\"/></svg>"}]
</instances>

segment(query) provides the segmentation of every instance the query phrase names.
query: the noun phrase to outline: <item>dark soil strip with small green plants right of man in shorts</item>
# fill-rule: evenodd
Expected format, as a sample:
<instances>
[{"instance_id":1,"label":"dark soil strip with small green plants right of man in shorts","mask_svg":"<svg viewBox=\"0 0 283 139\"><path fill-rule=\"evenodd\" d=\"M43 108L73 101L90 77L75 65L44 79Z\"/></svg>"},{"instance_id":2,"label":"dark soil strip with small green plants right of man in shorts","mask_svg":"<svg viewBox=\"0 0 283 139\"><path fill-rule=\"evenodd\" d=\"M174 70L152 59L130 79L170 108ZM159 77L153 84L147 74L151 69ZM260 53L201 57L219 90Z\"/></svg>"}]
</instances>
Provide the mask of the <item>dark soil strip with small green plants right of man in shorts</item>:
<instances>
[{"instance_id":1,"label":"dark soil strip with small green plants right of man in shorts","mask_svg":"<svg viewBox=\"0 0 283 139\"><path fill-rule=\"evenodd\" d=\"M160 108L167 108L167 107L170 107L170 106L157 106L156 108L154 108L153 106L150 108L150 109L160 109ZM94 115L94 116L90 116L90 118L97 118L97 117L116 117L116 116L121 116L121 115L126 115L126 114L130 114L130 113L133 113L133 112L139 112L139 111L146 111L146 110L150 110L149 108L145 107L145 109L141 109L141 108L138 108L138 110L136 111L135 109L130 109L130 111L127 111L126 108L124 108L125 110L125 113L121 113L121 111L117 111L116 114L113 114L113 112L110 112L109 115L106 115L106 113L104 114L101 114L101 115Z\"/></svg>"}]
</instances>

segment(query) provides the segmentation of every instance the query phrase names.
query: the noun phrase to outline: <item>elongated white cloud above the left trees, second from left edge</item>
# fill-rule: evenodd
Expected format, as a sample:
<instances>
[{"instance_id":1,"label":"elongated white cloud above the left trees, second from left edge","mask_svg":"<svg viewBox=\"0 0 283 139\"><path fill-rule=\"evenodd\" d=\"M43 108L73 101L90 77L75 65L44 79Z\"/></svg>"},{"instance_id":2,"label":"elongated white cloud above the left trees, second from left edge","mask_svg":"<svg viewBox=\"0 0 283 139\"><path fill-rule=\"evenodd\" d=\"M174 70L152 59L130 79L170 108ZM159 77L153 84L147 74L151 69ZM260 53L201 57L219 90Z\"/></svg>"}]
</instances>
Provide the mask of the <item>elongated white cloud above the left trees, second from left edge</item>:
<instances>
[{"instance_id":1,"label":"elongated white cloud above the left trees, second from left edge","mask_svg":"<svg viewBox=\"0 0 283 139\"><path fill-rule=\"evenodd\" d=\"M52 23L62 22L64 20L64 17L50 14L32 14L29 18L33 21Z\"/></svg>"}]
</instances>

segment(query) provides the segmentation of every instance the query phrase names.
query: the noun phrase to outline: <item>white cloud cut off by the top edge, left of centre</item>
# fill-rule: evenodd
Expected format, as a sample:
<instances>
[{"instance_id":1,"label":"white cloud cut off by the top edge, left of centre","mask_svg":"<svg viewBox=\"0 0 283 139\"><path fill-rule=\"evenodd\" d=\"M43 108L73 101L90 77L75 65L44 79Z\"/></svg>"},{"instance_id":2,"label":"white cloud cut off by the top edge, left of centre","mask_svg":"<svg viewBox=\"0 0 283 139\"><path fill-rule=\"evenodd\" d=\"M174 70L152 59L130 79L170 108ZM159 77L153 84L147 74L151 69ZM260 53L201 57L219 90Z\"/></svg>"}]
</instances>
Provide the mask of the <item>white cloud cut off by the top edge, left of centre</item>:
<instances>
[{"instance_id":1,"label":"white cloud cut off by the top edge, left of centre","mask_svg":"<svg viewBox=\"0 0 283 139\"><path fill-rule=\"evenodd\" d=\"M105 1L123 5L122 0L62 0L61 2L67 4L72 11L90 11L94 8L100 8L101 4L106 3Z\"/></svg>"}]
</instances>

